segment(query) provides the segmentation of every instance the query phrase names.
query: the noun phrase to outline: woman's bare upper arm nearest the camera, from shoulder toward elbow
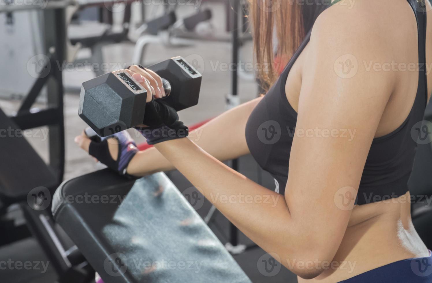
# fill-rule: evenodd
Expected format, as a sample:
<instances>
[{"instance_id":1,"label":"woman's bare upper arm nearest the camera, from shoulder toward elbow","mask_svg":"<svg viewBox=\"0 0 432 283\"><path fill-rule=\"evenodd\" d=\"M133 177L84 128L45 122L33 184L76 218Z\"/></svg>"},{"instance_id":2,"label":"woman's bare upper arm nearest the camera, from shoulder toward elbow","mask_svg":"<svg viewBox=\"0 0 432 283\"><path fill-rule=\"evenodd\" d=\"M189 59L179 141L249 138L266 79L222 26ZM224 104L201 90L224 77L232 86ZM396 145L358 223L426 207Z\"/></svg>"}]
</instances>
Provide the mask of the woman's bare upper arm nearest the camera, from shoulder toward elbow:
<instances>
[{"instance_id":1,"label":"woman's bare upper arm nearest the camera, from shoulder toward elbow","mask_svg":"<svg viewBox=\"0 0 432 283\"><path fill-rule=\"evenodd\" d=\"M340 196L354 202L393 80L363 64L388 56L364 19L332 13L317 19L306 51L285 191L292 218L328 253L342 241L351 210Z\"/></svg>"}]
</instances>

